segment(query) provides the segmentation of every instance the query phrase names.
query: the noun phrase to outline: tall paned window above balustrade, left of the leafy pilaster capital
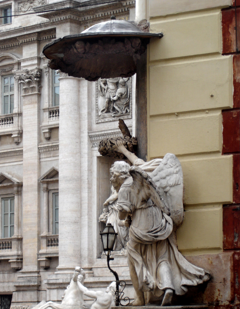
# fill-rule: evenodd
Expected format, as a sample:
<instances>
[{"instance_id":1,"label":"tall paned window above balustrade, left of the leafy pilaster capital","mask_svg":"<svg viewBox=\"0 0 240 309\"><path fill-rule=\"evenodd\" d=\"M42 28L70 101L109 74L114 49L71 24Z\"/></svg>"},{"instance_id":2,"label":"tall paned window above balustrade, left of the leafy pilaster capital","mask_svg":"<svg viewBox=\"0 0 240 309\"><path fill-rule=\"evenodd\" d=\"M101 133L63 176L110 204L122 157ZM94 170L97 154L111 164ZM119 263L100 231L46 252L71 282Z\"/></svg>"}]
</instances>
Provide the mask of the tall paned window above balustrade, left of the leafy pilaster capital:
<instances>
[{"instance_id":1,"label":"tall paned window above balustrade, left of the leafy pilaster capital","mask_svg":"<svg viewBox=\"0 0 240 309\"><path fill-rule=\"evenodd\" d=\"M10 114L14 109L14 77L3 76L3 114Z\"/></svg>"}]
</instances>

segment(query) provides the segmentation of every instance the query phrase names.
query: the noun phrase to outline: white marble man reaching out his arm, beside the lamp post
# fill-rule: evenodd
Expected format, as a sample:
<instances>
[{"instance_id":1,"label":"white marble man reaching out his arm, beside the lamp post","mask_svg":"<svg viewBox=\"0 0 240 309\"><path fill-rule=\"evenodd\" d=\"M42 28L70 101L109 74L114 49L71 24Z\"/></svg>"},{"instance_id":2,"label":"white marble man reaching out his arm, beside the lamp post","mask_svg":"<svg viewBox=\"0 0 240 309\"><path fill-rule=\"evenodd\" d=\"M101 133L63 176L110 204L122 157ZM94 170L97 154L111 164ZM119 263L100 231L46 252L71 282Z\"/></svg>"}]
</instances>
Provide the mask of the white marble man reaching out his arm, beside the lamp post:
<instances>
[{"instance_id":1,"label":"white marble man reaching out his arm, beside the lamp post","mask_svg":"<svg viewBox=\"0 0 240 309\"><path fill-rule=\"evenodd\" d=\"M90 309L110 309L115 305L116 282L112 282L105 292L91 291L83 286L80 281L78 281L78 286L84 295L95 299L89 307Z\"/></svg>"}]
</instances>

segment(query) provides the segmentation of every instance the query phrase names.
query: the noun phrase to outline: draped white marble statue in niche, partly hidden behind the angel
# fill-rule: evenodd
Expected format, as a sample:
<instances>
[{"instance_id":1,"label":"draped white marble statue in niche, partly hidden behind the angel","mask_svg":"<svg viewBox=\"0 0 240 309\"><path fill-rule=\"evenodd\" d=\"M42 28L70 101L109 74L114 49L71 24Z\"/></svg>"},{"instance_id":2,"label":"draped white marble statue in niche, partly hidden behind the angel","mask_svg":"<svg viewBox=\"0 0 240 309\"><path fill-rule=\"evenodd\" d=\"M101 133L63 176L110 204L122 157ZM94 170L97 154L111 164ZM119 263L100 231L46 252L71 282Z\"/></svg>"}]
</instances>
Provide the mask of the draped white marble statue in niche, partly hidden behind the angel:
<instances>
[{"instance_id":1,"label":"draped white marble statue in niche, partly hidden behind the angel","mask_svg":"<svg viewBox=\"0 0 240 309\"><path fill-rule=\"evenodd\" d=\"M110 223L114 227L114 231L118 233L117 240L114 244L114 251L122 250L126 248L128 242L128 230L129 227L125 226L125 220L119 220L118 218L118 193L111 187L112 194L103 204L103 213L99 217L99 221Z\"/></svg>"}]
</instances>

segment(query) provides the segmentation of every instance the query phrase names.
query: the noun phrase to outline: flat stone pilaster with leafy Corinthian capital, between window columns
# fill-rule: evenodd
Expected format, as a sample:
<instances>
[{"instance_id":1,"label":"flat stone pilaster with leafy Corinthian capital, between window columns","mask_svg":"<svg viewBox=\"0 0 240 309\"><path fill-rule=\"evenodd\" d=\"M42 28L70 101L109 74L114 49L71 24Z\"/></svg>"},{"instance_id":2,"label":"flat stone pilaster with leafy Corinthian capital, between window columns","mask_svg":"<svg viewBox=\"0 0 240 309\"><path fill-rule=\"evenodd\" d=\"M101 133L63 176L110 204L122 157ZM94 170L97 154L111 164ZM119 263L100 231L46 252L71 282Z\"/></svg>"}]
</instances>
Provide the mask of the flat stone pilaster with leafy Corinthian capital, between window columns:
<instances>
[{"instance_id":1,"label":"flat stone pilaster with leafy Corinthian capital, between window columns","mask_svg":"<svg viewBox=\"0 0 240 309\"><path fill-rule=\"evenodd\" d=\"M39 274L39 106L41 70L25 70L23 84L23 269L15 282L12 303L38 302ZM23 293L24 291L24 293Z\"/></svg>"}]
</instances>

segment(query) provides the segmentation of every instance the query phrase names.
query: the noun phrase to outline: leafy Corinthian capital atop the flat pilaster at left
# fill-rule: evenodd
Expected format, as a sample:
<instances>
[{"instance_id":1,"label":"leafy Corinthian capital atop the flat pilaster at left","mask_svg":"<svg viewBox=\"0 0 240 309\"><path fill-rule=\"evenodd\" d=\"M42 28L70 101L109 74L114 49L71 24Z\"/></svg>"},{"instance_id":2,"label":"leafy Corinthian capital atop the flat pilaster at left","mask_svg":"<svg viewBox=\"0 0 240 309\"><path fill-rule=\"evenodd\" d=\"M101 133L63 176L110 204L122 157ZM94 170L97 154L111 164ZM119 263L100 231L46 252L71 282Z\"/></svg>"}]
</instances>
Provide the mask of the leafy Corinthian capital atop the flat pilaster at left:
<instances>
[{"instance_id":1,"label":"leafy Corinthian capital atop the flat pilaster at left","mask_svg":"<svg viewBox=\"0 0 240 309\"><path fill-rule=\"evenodd\" d=\"M30 94L41 91L41 74L42 70L34 71L24 70L24 74L16 76L19 84L23 84L23 94Z\"/></svg>"}]
</instances>

